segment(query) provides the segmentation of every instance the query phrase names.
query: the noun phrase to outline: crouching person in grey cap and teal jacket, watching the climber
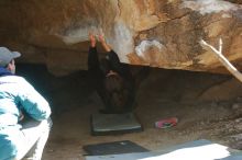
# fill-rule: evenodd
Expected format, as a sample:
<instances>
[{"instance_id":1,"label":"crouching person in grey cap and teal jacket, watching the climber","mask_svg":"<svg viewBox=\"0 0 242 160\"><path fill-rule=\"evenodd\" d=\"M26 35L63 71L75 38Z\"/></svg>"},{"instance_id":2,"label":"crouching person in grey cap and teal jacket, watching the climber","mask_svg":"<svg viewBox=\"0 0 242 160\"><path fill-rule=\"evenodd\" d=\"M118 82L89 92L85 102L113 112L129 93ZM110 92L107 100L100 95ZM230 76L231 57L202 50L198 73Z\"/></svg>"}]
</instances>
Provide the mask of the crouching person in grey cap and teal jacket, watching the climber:
<instances>
[{"instance_id":1,"label":"crouching person in grey cap and teal jacket, watching the climber","mask_svg":"<svg viewBox=\"0 0 242 160\"><path fill-rule=\"evenodd\" d=\"M15 76L18 52L0 47L0 160L41 160L52 122L47 101Z\"/></svg>"}]
</instances>

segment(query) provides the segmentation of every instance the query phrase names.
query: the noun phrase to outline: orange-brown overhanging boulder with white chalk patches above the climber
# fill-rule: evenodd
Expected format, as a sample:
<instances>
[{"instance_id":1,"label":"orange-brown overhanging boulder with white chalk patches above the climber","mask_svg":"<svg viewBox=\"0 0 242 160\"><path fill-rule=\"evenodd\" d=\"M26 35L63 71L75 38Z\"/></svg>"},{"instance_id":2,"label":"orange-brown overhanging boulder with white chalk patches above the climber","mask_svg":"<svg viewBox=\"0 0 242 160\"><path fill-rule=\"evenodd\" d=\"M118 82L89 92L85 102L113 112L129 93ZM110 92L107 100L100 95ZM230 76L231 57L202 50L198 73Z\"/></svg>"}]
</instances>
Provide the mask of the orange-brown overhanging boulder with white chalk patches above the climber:
<instances>
[{"instance_id":1,"label":"orange-brown overhanging boulder with white chalk patches above the climber","mask_svg":"<svg viewBox=\"0 0 242 160\"><path fill-rule=\"evenodd\" d=\"M102 32L122 62L224 72L200 39L242 69L241 0L1 0L0 44L55 75L87 69L88 32Z\"/></svg>"}]
</instances>

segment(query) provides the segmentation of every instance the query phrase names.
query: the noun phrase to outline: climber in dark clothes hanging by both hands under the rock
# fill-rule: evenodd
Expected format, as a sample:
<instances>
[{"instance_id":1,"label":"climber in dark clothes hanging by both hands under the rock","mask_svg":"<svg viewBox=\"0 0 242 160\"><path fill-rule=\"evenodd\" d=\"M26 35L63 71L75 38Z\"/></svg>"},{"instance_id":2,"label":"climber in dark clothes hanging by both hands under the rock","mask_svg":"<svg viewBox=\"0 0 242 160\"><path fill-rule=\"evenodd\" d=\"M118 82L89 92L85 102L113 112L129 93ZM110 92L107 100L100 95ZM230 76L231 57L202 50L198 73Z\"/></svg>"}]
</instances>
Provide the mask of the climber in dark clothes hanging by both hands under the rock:
<instances>
[{"instance_id":1,"label":"climber in dark clothes hanging by both hands under the rock","mask_svg":"<svg viewBox=\"0 0 242 160\"><path fill-rule=\"evenodd\" d=\"M118 55L106 43L102 35L98 36L101 46L107 52L106 57L99 60L96 37L89 34L90 47L88 54L88 71L91 84L102 99L105 114L121 114L131 112L134 105L134 78L128 65L121 64Z\"/></svg>"}]
</instances>

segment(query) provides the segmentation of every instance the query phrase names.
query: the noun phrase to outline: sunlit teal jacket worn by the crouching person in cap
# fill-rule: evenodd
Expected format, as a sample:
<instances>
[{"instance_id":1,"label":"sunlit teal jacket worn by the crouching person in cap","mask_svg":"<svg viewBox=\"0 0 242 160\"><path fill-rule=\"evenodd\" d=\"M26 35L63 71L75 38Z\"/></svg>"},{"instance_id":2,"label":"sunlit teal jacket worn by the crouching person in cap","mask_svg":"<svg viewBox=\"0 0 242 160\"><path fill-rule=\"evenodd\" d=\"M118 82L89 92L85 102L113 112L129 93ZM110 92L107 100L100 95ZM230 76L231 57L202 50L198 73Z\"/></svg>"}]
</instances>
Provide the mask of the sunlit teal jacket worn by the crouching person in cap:
<instances>
[{"instance_id":1,"label":"sunlit teal jacket worn by the crouching person in cap","mask_svg":"<svg viewBox=\"0 0 242 160\"><path fill-rule=\"evenodd\" d=\"M0 160L18 152L21 111L36 121L51 115L47 101L24 78L0 68Z\"/></svg>"}]
</instances>

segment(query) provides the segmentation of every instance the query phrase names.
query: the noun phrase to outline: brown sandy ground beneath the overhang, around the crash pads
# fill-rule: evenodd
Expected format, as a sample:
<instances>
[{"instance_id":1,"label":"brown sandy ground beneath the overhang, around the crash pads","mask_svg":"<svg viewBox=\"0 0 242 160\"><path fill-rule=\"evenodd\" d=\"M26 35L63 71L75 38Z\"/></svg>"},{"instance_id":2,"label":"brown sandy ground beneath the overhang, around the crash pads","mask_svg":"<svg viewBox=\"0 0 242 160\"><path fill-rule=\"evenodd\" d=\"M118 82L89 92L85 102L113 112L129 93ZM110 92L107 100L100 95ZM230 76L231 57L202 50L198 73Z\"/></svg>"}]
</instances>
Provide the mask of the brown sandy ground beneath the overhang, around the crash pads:
<instances>
[{"instance_id":1,"label":"brown sandy ground beneath the overhang, around the crash pads","mask_svg":"<svg viewBox=\"0 0 242 160\"><path fill-rule=\"evenodd\" d=\"M86 105L85 108L66 111L54 118L55 125L45 149L44 160L84 159L84 145L118 140L131 140L150 150L158 150L196 139L232 145L232 140L237 138L233 136L242 138L240 136L242 118L234 116L234 111L227 104L194 106L166 102L160 103L158 106L146 106L136 111L144 132L119 136L91 136L89 116L97 111L90 107L94 107L94 104ZM183 107L183 112L177 112L177 107ZM155 121L170 116L178 117L176 127L168 129L154 127ZM237 140L240 139L235 139L235 142Z\"/></svg>"}]
</instances>

